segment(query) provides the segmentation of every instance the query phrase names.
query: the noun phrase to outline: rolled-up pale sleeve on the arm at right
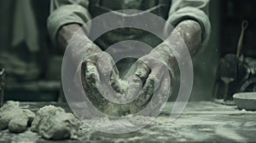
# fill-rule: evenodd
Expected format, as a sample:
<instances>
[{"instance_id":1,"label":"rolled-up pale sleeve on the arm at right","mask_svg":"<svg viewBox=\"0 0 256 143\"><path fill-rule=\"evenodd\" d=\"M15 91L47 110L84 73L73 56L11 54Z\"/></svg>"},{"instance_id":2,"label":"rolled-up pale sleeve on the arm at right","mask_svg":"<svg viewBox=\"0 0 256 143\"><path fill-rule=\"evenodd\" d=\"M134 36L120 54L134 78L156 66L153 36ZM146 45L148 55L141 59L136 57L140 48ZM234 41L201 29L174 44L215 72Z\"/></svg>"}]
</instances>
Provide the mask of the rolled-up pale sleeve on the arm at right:
<instances>
[{"instance_id":1,"label":"rolled-up pale sleeve on the arm at right","mask_svg":"<svg viewBox=\"0 0 256 143\"><path fill-rule=\"evenodd\" d=\"M177 26L183 20L197 20L202 27L202 47L210 37L211 23L208 18L209 0L172 0L168 22Z\"/></svg>"}]
</instances>

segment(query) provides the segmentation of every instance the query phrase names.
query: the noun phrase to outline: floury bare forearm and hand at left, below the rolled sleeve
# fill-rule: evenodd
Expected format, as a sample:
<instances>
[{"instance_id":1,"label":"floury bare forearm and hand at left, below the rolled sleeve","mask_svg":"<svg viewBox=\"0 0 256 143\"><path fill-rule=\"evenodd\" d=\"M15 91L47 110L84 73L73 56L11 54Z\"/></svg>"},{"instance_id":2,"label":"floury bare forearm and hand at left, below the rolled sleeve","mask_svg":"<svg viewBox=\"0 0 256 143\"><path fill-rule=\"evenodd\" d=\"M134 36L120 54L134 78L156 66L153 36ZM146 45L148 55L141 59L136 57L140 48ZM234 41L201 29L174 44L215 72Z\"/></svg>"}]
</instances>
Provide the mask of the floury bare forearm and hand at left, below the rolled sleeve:
<instances>
[{"instance_id":1,"label":"floury bare forearm and hand at left, below the rolled sleeve","mask_svg":"<svg viewBox=\"0 0 256 143\"><path fill-rule=\"evenodd\" d=\"M84 89L90 102L101 112L112 116L124 115L128 106L119 103L127 87L119 79L113 58L90 41L83 31L75 32L78 29L78 25L63 26L58 37L59 45L77 67L75 84Z\"/></svg>"}]
</instances>

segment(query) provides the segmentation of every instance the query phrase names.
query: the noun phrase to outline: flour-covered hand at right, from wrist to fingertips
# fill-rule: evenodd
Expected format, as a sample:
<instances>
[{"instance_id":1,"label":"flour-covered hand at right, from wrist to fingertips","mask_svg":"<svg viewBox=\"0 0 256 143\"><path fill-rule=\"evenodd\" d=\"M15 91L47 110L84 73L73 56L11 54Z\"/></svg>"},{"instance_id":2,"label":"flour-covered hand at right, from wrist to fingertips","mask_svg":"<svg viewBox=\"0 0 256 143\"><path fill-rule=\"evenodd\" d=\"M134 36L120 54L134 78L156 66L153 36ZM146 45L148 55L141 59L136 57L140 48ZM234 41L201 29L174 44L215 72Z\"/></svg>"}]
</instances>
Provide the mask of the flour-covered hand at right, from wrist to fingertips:
<instances>
[{"instance_id":1,"label":"flour-covered hand at right, from wrist to fingertips","mask_svg":"<svg viewBox=\"0 0 256 143\"><path fill-rule=\"evenodd\" d=\"M125 78L129 81L128 94L131 102L130 112L142 110L151 100L151 108L162 106L171 92L171 68L163 55L157 51L144 55L137 60ZM156 98L153 96L156 95Z\"/></svg>"}]
</instances>

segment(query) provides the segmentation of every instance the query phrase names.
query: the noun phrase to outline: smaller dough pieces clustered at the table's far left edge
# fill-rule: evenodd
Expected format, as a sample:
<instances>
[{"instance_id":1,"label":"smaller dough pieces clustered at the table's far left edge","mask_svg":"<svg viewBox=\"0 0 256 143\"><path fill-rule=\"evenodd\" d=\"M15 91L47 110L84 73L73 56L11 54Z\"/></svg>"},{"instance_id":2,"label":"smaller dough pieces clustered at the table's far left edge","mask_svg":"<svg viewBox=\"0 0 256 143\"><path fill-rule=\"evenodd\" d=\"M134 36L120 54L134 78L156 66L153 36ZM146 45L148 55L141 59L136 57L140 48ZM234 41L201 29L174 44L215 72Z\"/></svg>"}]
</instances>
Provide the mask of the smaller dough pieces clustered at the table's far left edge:
<instances>
[{"instance_id":1,"label":"smaller dough pieces clustered at the table's far left edge","mask_svg":"<svg viewBox=\"0 0 256 143\"><path fill-rule=\"evenodd\" d=\"M34 117L30 110L20 109L20 102L8 101L0 109L0 129L9 129L11 133L24 132Z\"/></svg>"}]
</instances>

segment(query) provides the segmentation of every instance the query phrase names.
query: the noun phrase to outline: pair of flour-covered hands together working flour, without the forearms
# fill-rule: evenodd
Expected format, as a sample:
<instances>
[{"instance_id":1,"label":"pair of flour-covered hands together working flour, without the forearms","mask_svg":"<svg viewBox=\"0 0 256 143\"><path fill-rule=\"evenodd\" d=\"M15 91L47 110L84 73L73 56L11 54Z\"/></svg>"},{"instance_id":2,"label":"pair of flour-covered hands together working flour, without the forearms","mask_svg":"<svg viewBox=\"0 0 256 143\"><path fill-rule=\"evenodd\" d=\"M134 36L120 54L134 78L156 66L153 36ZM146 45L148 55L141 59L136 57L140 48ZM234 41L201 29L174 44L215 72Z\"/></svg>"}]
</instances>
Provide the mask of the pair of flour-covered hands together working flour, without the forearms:
<instances>
[{"instance_id":1,"label":"pair of flour-covered hands together working flour, without the forearms","mask_svg":"<svg viewBox=\"0 0 256 143\"><path fill-rule=\"evenodd\" d=\"M126 75L128 83L119 79L112 57L102 51L86 54L81 69L86 95L93 105L108 115L137 113L150 100L153 100L151 108L163 106L170 94L169 69L156 51L137 60ZM160 96L152 99L154 94ZM129 104L121 104L124 100Z\"/></svg>"}]
</instances>

